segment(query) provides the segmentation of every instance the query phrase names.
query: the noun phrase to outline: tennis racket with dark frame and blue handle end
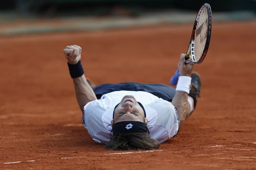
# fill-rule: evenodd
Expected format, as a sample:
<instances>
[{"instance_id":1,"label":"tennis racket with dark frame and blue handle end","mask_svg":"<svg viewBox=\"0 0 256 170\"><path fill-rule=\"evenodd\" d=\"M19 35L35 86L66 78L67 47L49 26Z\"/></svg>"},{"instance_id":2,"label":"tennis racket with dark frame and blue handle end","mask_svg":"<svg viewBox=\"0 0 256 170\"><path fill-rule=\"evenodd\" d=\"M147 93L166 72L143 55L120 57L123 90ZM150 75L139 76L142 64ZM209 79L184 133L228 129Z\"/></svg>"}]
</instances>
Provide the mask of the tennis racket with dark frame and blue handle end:
<instances>
[{"instance_id":1,"label":"tennis racket with dark frame and blue handle end","mask_svg":"<svg viewBox=\"0 0 256 170\"><path fill-rule=\"evenodd\" d=\"M194 27L185 57L186 62L200 64L205 59L211 38L212 10L209 4L201 6L194 22ZM171 78L171 84L177 85L179 79L179 68Z\"/></svg>"}]
</instances>

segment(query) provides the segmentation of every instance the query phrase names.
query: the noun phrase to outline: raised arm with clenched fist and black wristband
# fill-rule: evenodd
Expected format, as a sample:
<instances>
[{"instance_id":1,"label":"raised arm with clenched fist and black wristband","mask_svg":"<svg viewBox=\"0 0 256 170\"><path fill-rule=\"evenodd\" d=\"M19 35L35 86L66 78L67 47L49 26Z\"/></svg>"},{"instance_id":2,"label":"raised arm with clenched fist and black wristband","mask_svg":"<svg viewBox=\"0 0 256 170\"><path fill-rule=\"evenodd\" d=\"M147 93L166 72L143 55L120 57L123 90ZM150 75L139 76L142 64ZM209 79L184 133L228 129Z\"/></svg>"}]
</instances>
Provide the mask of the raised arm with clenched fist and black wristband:
<instances>
[{"instance_id":1,"label":"raised arm with clenched fist and black wristband","mask_svg":"<svg viewBox=\"0 0 256 170\"><path fill-rule=\"evenodd\" d=\"M73 78L78 105L83 110L84 105L97 98L84 76L84 70L80 61L82 49L77 45L66 46L63 52L68 60L69 73Z\"/></svg>"}]
</instances>

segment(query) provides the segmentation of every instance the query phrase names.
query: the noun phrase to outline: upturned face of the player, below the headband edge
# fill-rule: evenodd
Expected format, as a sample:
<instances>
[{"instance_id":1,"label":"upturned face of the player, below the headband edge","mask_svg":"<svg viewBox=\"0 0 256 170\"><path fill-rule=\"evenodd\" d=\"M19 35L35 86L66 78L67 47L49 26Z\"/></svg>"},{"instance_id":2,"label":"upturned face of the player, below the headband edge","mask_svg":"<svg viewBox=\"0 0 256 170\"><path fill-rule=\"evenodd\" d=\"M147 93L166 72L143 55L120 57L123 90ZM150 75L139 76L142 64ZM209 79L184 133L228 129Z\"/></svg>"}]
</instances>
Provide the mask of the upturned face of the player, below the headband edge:
<instances>
[{"instance_id":1,"label":"upturned face of the player, below the headband edge","mask_svg":"<svg viewBox=\"0 0 256 170\"><path fill-rule=\"evenodd\" d=\"M114 122L120 122L120 121L141 121L146 122L147 120L144 117L144 112L141 106L139 106L139 103L136 101L134 96L124 96L123 99L121 99L121 102L116 107L114 111Z\"/></svg>"}]
</instances>

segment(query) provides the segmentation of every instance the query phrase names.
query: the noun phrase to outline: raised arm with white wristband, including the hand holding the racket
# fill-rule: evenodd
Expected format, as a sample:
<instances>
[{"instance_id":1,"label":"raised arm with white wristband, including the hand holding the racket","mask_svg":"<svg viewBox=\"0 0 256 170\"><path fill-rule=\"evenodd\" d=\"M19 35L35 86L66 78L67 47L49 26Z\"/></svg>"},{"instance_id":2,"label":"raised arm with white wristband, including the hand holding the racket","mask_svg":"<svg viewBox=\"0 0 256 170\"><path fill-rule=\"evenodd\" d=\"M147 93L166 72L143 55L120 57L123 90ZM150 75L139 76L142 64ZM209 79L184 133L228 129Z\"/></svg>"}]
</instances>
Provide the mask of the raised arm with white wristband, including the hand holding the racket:
<instances>
[{"instance_id":1,"label":"raised arm with white wristband, including the hand holding the racket","mask_svg":"<svg viewBox=\"0 0 256 170\"><path fill-rule=\"evenodd\" d=\"M179 127L182 126L190 113L190 105L188 103L188 93L191 82L191 72L194 68L194 63L185 64L185 54L180 55L179 59L179 81L176 87L176 94L172 99L172 104L179 113Z\"/></svg>"}]
</instances>

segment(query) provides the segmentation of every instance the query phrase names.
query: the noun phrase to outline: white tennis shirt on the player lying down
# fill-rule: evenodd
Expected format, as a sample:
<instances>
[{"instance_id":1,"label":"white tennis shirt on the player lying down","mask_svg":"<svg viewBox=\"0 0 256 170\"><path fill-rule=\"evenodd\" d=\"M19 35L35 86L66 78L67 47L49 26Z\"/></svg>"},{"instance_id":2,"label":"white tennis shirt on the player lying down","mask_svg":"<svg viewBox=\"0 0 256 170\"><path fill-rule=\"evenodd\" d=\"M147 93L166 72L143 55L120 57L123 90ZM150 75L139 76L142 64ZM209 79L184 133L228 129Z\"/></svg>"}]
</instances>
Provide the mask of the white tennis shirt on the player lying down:
<instances>
[{"instance_id":1,"label":"white tennis shirt on the player lying down","mask_svg":"<svg viewBox=\"0 0 256 170\"><path fill-rule=\"evenodd\" d=\"M142 103L148 119L150 138L159 143L175 136L179 129L178 113L172 103L148 92L110 92L84 106L82 122L93 140L99 143L110 141L111 120L114 107L125 95L132 95Z\"/></svg>"}]
</instances>

